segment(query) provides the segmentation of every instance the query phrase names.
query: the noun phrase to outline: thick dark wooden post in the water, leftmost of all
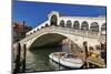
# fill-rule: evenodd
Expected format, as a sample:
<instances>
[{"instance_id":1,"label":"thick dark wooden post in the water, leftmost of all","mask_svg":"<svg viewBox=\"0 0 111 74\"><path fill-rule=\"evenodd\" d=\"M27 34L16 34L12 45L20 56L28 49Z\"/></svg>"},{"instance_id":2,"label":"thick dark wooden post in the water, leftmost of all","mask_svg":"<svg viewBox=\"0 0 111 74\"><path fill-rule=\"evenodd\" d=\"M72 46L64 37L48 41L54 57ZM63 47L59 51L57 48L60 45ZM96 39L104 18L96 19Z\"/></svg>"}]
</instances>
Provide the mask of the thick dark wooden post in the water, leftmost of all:
<instances>
[{"instance_id":1,"label":"thick dark wooden post in the water, leftmost of all","mask_svg":"<svg viewBox=\"0 0 111 74\"><path fill-rule=\"evenodd\" d=\"M16 57L16 68L13 70L13 73L19 73L20 72L20 53L21 53L21 46L20 43L17 45L17 57Z\"/></svg>"}]
</instances>

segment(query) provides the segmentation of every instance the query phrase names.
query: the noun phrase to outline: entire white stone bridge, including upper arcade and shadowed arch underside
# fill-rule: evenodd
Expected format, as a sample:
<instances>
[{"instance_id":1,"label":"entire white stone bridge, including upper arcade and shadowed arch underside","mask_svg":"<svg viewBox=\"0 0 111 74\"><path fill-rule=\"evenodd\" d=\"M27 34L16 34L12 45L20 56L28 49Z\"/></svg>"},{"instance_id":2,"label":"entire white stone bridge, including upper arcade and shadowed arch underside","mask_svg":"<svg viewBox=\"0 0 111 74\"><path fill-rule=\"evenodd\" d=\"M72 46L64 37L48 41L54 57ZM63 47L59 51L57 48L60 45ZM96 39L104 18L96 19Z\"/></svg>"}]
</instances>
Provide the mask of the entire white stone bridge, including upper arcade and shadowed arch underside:
<instances>
[{"instance_id":1,"label":"entire white stone bridge, including upper arcade and shadowed arch underside","mask_svg":"<svg viewBox=\"0 0 111 74\"><path fill-rule=\"evenodd\" d=\"M69 39L81 50L84 41L88 42L88 46L95 49L95 45L105 42L105 17L63 17L52 11L47 21L29 31L19 42L21 46L26 44L27 49L30 49L60 41L63 43L64 39Z\"/></svg>"}]
</instances>

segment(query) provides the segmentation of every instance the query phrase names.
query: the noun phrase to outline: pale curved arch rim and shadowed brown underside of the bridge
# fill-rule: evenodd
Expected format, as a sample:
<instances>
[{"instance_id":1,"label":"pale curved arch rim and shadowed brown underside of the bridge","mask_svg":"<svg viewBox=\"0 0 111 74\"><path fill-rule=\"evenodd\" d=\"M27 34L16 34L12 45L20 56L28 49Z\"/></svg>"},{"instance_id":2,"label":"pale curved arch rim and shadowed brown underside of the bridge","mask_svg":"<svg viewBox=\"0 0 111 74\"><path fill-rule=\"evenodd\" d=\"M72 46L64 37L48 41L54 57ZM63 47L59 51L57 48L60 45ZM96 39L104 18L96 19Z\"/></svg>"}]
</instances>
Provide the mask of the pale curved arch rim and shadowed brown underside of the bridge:
<instances>
[{"instance_id":1,"label":"pale curved arch rim and shadowed brown underside of the bridge","mask_svg":"<svg viewBox=\"0 0 111 74\"><path fill-rule=\"evenodd\" d=\"M41 34L39 34L38 36L36 36L33 40L31 40L30 45L28 49L32 49L33 46L43 46L43 45L50 45L53 42L57 44L59 42L62 42L63 39L69 39L70 41L73 42L73 44L75 44L79 49L81 49L81 46L79 45L80 43L78 41L74 41L72 36L64 34L64 33L60 33L60 32L43 32ZM49 42L47 44L47 42Z\"/></svg>"}]
</instances>

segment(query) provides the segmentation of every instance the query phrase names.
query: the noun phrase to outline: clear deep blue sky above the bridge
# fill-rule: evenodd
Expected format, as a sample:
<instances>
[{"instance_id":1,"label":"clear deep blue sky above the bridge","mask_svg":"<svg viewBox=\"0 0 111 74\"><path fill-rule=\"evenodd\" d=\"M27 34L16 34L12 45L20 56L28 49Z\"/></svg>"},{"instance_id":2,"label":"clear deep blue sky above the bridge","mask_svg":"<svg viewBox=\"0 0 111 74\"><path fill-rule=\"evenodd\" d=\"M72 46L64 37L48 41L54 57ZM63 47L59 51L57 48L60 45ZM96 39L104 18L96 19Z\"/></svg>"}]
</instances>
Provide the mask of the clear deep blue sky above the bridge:
<instances>
[{"instance_id":1,"label":"clear deep blue sky above the bridge","mask_svg":"<svg viewBox=\"0 0 111 74\"><path fill-rule=\"evenodd\" d=\"M103 6L81 6L46 2L13 2L13 22L22 22L30 27L37 27L47 20L50 11L59 11L62 15L73 17L98 17L105 15Z\"/></svg>"}]
</instances>

